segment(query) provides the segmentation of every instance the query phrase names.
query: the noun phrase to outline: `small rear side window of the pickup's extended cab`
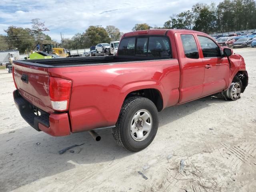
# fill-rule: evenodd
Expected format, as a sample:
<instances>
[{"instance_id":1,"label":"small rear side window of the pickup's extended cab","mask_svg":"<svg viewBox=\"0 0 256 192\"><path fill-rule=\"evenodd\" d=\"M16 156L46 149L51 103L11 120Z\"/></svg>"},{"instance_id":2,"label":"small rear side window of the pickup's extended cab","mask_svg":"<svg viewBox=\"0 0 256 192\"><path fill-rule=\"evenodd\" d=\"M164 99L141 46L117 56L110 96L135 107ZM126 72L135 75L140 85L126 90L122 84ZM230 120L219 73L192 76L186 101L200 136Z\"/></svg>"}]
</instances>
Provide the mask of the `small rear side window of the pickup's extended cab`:
<instances>
[{"instance_id":1,"label":"small rear side window of the pickup's extended cab","mask_svg":"<svg viewBox=\"0 0 256 192\"><path fill-rule=\"evenodd\" d=\"M184 53L187 58L192 58L192 59L198 59L199 54L198 54L198 48L196 45L196 40L192 34L184 34L180 35Z\"/></svg>"}]
</instances>

